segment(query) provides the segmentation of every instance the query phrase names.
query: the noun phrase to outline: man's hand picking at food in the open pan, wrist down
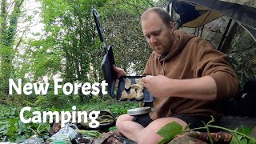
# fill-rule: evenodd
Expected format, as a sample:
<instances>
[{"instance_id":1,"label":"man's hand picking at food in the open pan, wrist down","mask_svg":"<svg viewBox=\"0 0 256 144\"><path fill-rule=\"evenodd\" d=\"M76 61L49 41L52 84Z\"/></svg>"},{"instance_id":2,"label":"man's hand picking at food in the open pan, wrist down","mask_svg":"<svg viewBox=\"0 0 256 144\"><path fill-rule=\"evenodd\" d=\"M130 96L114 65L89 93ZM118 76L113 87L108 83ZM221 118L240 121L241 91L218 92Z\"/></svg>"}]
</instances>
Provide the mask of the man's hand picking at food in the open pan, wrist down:
<instances>
[{"instance_id":1,"label":"man's hand picking at food in the open pan, wrist down","mask_svg":"<svg viewBox=\"0 0 256 144\"><path fill-rule=\"evenodd\" d=\"M163 75L143 77L142 82L145 82L144 87L154 95L154 97L170 96L171 79Z\"/></svg>"}]
</instances>

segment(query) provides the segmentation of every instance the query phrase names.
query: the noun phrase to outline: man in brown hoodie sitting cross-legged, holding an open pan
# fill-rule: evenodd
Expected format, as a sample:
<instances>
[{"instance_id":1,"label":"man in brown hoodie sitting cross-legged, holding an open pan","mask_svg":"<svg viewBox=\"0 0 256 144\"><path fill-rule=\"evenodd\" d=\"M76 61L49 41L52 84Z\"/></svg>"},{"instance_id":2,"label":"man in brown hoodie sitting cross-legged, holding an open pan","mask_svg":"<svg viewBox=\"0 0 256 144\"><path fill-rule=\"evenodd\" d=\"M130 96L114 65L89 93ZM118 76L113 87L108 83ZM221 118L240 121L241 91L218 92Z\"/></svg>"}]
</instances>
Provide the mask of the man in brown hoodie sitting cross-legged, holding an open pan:
<instances>
[{"instance_id":1,"label":"man in brown hoodie sitting cross-legged, holding an open pan","mask_svg":"<svg viewBox=\"0 0 256 144\"><path fill-rule=\"evenodd\" d=\"M238 89L238 79L226 54L215 50L202 38L174 30L170 15L162 8L146 10L141 17L142 32L154 49L142 78L154 95L154 110L135 122L132 116L118 117L118 130L134 142L157 143L158 130L170 122L184 128L203 126L211 115L221 118L218 100L230 98ZM114 66L118 78L126 75Z\"/></svg>"}]
</instances>

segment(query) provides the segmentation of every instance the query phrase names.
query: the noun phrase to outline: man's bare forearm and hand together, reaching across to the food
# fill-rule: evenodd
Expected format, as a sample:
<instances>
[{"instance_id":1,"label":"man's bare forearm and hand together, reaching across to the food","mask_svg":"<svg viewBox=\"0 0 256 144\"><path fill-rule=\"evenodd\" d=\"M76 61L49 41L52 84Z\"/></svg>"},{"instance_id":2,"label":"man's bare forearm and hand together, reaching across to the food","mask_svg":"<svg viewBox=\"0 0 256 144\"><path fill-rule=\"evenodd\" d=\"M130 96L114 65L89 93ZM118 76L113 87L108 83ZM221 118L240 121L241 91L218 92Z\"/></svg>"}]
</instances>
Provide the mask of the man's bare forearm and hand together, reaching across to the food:
<instances>
[{"instance_id":1,"label":"man's bare forearm and hand together, reaching across to the food","mask_svg":"<svg viewBox=\"0 0 256 144\"><path fill-rule=\"evenodd\" d=\"M171 79L163 75L144 77L144 87L154 97L181 97L211 101L217 97L217 86L213 78Z\"/></svg>"}]
</instances>

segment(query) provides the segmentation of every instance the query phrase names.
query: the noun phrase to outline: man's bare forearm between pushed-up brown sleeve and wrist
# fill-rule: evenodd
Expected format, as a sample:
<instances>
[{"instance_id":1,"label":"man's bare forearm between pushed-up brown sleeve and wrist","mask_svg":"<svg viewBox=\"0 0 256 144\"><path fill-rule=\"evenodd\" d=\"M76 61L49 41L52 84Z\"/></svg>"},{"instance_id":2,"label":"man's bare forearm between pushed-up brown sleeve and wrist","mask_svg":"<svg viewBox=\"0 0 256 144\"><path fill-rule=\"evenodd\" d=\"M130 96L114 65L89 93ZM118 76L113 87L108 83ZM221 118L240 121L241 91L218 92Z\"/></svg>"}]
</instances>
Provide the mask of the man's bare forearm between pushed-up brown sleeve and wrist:
<instances>
[{"instance_id":1,"label":"man's bare forearm between pushed-up brown sleeve and wrist","mask_svg":"<svg viewBox=\"0 0 256 144\"><path fill-rule=\"evenodd\" d=\"M217 86L210 76L194 79L171 79L170 95L198 100L214 100L217 97Z\"/></svg>"}]
</instances>

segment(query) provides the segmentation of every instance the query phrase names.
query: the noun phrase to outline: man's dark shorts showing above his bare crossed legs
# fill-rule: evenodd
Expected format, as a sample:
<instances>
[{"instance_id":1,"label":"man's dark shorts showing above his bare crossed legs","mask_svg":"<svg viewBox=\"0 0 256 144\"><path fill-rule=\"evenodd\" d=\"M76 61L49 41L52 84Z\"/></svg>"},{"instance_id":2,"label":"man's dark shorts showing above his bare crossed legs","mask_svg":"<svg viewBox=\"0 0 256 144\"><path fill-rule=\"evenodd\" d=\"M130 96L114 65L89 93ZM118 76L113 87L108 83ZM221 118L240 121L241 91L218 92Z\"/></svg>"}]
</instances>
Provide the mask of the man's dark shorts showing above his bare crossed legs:
<instances>
[{"instance_id":1,"label":"man's dark shorts showing above his bare crossed legs","mask_svg":"<svg viewBox=\"0 0 256 144\"><path fill-rule=\"evenodd\" d=\"M204 127L205 126L204 123L206 124L211 120L211 117L208 117L205 115L174 115L174 116L171 116L171 118L182 119L182 121L186 122L187 124L190 124L190 129ZM150 122L153 122L149 114L136 115L134 116L132 121L141 124L143 127L146 127L150 124ZM212 122L211 125L216 126L218 125L218 122ZM206 131L206 130L202 129L198 131ZM210 129L210 132L215 132L215 131L218 131L218 130Z\"/></svg>"}]
</instances>

